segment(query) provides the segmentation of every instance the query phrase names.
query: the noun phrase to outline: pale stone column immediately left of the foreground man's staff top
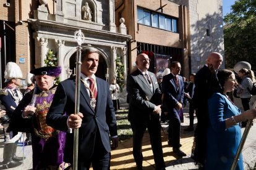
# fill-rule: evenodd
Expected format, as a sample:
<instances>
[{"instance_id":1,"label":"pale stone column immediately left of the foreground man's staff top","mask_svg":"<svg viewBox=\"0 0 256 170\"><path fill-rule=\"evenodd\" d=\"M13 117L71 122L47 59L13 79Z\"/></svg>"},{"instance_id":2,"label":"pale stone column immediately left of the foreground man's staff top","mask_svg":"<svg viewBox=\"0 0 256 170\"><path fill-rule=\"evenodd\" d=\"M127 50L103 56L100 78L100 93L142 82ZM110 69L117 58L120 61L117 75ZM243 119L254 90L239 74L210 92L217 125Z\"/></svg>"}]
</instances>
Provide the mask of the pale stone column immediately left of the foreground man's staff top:
<instances>
[{"instance_id":1,"label":"pale stone column immediately left of the foreground man's staff top","mask_svg":"<svg viewBox=\"0 0 256 170\"><path fill-rule=\"evenodd\" d=\"M60 79L66 79L68 78L67 76L67 70L69 69L69 65L67 64L68 62L64 61L64 52L63 48L65 46L65 41L61 39L55 39L56 47L57 47L57 59L58 59L58 66L61 66L61 75Z\"/></svg>"}]
</instances>

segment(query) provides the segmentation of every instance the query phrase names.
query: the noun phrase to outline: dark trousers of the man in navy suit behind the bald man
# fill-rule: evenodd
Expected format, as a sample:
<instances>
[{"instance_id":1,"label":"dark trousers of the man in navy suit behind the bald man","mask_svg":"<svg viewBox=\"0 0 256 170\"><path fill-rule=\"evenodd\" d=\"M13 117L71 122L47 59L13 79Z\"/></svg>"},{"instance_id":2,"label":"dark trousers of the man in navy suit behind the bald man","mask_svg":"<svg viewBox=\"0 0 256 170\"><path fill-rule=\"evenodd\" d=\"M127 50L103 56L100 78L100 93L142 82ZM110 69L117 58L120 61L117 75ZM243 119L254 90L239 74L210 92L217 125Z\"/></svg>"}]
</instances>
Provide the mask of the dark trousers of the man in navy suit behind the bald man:
<instances>
[{"instance_id":1,"label":"dark trousers of the man in navy suit behind the bald man","mask_svg":"<svg viewBox=\"0 0 256 170\"><path fill-rule=\"evenodd\" d=\"M169 115L169 129L168 129L169 143L171 143L174 148L179 148L180 137L181 137L181 120L179 119L178 110L169 111L168 115Z\"/></svg>"}]
</instances>

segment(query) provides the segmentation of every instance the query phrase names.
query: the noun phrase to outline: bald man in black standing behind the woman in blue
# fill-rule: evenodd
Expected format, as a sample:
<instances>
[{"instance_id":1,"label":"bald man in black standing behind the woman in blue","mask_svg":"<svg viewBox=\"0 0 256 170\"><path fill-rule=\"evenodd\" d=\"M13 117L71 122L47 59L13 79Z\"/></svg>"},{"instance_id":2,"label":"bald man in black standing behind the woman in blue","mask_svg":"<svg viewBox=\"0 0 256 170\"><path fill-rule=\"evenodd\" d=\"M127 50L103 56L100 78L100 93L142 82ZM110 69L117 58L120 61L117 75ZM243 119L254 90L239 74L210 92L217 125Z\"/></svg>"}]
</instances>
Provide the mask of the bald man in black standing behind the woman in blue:
<instances>
[{"instance_id":1,"label":"bald man in black standing behind the woman in blue","mask_svg":"<svg viewBox=\"0 0 256 170\"><path fill-rule=\"evenodd\" d=\"M207 62L195 75L195 89L193 102L197 115L197 127L195 128L194 160L204 167L206 158L206 133L208 126L208 98L221 88L216 76L223 62L223 57L218 52L212 52L207 57Z\"/></svg>"}]
</instances>

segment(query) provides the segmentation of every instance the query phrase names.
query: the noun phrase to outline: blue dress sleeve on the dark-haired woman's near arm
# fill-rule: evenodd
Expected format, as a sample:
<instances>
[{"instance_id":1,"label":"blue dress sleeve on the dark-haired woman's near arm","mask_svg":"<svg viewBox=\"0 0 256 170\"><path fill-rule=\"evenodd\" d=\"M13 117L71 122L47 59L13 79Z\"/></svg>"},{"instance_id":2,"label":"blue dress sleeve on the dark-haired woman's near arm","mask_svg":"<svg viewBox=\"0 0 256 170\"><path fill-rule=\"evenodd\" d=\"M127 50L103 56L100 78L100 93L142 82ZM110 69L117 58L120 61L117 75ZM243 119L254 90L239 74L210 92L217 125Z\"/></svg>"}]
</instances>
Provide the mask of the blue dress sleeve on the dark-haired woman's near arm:
<instances>
[{"instance_id":1,"label":"blue dress sleeve on the dark-haired woman's near arm","mask_svg":"<svg viewBox=\"0 0 256 170\"><path fill-rule=\"evenodd\" d=\"M223 95L219 93L213 94L210 99L208 99L210 126L216 132L226 130L226 121L223 119L225 104L226 101Z\"/></svg>"}]
</instances>

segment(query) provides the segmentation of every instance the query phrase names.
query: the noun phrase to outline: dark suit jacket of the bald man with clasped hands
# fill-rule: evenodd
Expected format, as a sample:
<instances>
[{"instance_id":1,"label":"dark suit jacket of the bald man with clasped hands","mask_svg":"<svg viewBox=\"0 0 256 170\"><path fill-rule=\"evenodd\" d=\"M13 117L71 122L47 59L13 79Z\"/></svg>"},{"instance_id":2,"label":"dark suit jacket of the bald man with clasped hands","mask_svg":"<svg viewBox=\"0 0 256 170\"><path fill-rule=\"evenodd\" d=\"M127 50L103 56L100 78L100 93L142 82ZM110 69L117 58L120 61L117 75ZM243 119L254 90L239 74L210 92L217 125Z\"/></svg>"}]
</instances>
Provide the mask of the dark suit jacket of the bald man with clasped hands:
<instances>
[{"instance_id":1,"label":"dark suit jacket of the bald man with clasped hands","mask_svg":"<svg viewBox=\"0 0 256 170\"><path fill-rule=\"evenodd\" d=\"M154 73L148 71L151 78L153 91L147 79L140 70L135 70L127 77L127 92L129 96L129 121L134 123L143 123L151 118L159 118L159 115L153 114L155 105L161 104L161 91Z\"/></svg>"}]
</instances>

